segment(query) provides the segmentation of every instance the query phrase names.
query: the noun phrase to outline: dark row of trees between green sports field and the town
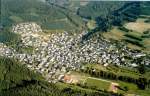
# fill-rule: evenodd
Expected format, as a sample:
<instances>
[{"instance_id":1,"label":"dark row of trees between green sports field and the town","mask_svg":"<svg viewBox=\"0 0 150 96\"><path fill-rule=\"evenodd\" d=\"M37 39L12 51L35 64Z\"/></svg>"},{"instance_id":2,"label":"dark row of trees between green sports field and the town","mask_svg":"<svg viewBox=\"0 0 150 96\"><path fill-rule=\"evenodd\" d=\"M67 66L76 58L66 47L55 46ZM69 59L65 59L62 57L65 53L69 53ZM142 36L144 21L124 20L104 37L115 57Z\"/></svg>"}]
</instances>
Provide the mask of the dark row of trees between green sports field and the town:
<instances>
[{"instance_id":1,"label":"dark row of trees between green sports field and the town","mask_svg":"<svg viewBox=\"0 0 150 96\"><path fill-rule=\"evenodd\" d=\"M91 76L104 78L104 79L111 79L111 80L120 80L124 82L134 83L138 86L139 89L146 89L150 88L150 80L145 77L129 77L124 75L118 75L112 72L103 71L103 70L94 70L93 68L87 67L86 69L81 69L81 72L88 73Z\"/></svg>"}]
</instances>

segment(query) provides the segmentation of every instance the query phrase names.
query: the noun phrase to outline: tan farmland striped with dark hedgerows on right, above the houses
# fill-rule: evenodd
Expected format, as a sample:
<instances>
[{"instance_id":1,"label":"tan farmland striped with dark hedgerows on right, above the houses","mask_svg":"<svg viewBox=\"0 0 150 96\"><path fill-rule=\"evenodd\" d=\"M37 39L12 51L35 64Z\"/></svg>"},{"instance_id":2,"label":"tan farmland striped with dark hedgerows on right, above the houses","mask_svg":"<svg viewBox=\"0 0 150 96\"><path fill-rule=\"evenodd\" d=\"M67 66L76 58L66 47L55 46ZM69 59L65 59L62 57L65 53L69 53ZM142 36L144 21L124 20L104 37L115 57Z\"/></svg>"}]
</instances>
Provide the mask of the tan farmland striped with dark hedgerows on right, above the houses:
<instances>
[{"instance_id":1,"label":"tan farmland striped with dark hedgerows on right, above the houses","mask_svg":"<svg viewBox=\"0 0 150 96\"><path fill-rule=\"evenodd\" d=\"M102 33L106 39L125 41L132 49L150 52L150 23L143 18L136 22L125 23L123 27L113 27L109 32Z\"/></svg>"}]
</instances>

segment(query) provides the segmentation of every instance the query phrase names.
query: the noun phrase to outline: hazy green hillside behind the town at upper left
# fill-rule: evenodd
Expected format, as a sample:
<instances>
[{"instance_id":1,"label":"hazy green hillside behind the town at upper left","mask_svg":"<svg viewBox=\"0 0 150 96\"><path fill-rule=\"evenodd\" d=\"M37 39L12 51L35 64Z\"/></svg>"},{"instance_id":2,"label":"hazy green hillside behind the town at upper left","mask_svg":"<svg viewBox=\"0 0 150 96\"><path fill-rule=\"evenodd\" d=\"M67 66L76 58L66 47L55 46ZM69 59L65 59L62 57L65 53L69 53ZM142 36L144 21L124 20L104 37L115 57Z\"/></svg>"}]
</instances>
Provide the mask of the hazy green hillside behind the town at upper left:
<instances>
[{"instance_id":1,"label":"hazy green hillside behind the town at upper left","mask_svg":"<svg viewBox=\"0 0 150 96\"><path fill-rule=\"evenodd\" d=\"M69 17L80 21L79 17L72 17L72 15L68 10L40 0L2 0L1 22L3 26L35 21L44 29L71 30L76 28L76 25L72 23L73 20L69 20ZM80 22L77 23L80 24Z\"/></svg>"}]
</instances>

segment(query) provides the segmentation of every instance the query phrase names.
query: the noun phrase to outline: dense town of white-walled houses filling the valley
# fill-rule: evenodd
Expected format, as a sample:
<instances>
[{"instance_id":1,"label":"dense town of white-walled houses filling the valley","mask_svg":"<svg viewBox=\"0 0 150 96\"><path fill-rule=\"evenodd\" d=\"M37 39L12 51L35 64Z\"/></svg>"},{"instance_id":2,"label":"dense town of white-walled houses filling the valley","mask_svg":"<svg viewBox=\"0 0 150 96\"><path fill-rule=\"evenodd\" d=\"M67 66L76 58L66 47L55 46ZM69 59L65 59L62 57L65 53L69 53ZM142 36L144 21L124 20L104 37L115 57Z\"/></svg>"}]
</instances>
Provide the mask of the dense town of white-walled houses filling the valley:
<instances>
[{"instance_id":1,"label":"dense town of white-walled houses filling the valley","mask_svg":"<svg viewBox=\"0 0 150 96\"><path fill-rule=\"evenodd\" d=\"M83 44L82 37L87 32L70 35L68 32L53 33L47 41L44 41L40 33L42 29L34 22L20 23L13 26L13 32L20 34L23 46L34 47L34 52L19 53L14 49L0 44L0 55L14 57L24 62L28 68L42 73L49 82L57 82L69 70L82 67L83 63L98 63L108 66L116 64L119 66L137 66L129 62L125 57L139 58L146 56L144 53L130 51L126 46L118 49L116 45L97 35ZM147 65L150 60L144 61Z\"/></svg>"}]
</instances>

